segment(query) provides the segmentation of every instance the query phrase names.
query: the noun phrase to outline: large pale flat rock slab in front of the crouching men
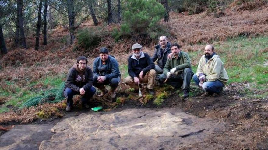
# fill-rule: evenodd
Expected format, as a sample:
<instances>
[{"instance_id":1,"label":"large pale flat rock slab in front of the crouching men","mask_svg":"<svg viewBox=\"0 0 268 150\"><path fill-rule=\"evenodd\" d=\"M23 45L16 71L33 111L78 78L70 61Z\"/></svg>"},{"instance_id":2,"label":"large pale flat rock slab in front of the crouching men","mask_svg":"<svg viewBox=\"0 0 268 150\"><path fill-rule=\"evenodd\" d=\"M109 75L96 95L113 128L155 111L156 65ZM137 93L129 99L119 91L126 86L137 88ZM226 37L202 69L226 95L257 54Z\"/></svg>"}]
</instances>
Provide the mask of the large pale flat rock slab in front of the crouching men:
<instances>
[{"instance_id":1,"label":"large pale flat rock slab in front of the crouching men","mask_svg":"<svg viewBox=\"0 0 268 150\"><path fill-rule=\"evenodd\" d=\"M98 112L58 122L39 149L178 149L224 129L224 123L175 108Z\"/></svg>"}]
</instances>

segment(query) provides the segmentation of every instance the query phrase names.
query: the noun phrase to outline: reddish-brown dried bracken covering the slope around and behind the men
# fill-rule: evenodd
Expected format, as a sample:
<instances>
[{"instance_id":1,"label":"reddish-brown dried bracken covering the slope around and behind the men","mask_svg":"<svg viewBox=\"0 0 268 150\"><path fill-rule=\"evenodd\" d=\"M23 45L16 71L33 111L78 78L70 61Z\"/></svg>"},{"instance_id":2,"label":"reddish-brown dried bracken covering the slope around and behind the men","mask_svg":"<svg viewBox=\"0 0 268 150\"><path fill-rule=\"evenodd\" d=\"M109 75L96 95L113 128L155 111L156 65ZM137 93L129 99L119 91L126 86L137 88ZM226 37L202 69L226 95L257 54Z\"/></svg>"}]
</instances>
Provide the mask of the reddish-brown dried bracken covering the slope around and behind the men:
<instances>
[{"instance_id":1,"label":"reddish-brown dried bracken covering the slope around and behind the men","mask_svg":"<svg viewBox=\"0 0 268 150\"><path fill-rule=\"evenodd\" d=\"M203 49L203 45L197 45L198 43L211 43L214 40L224 41L227 38L242 35L268 35L268 7L264 1L248 2L244 5L231 4L224 11L224 16L219 18L212 18L207 12L197 15L171 12L170 22L162 21L162 24L169 28L171 36L168 38L172 43L178 42L182 45L183 51L195 52ZM88 27L97 29L97 27L89 22L80 26L80 28ZM118 28L118 25L112 24L102 30L103 32L111 32L113 28ZM127 63L127 58L131 55L132 44L136 42L142 43L144 46L143 51L149 55L153 54L154 45L157 44L157 41L150 41L144 38L122 38L119 42L115 42L114 38L107 36L96 48L85 52L83 49L74 51L74 46L59 42L65 36L68 36L68 31L58 27L49 34L48 45L43 46L40 51L35 51L33 48L27 50L17 48L10 50L8 54L2 56L0 59L0 89L15 93L18 87L33 90L44 88L42 84L37 84L33 87L30 87L29 84L46 76L67 74L78 55L87 56L89 58L88 65L92 67L92 62L94 57L97 56L99 48L104 46L110 50L111 55L115 55L119 64L122 65ZM29 46L34 45L34 40L34 38L27 40L30 43ZM12 45L10 43L7 42L7 46ZM268 52L267 48L263 49L262 52ZM218 49L217 53L224 53L224 49ZM202 53L199 53L197 57L200 58L201 55ZM253 55L253 53L248 54L248 58L251 58ZM225 61L226 67L234 65L231 63L233 61L228 61L233 57L235 56L231 54L227 57ZM197 59L192 59L192 65L197 65L198 61ZM11 82L12 85L7 85L7 81ZM122 88L122 91L124 90L125 88ZM111 99L107 99L94 98L94 100L102 102L107 106L116 105ZM8 101L8 98L0 99L0 103L6 101ZM64 108L62 103L24 108L17 112L11 111L0 114L0 122L17 121L28 123L38 117L37 112L47 107Z\"/></svg>"}]
</instances>

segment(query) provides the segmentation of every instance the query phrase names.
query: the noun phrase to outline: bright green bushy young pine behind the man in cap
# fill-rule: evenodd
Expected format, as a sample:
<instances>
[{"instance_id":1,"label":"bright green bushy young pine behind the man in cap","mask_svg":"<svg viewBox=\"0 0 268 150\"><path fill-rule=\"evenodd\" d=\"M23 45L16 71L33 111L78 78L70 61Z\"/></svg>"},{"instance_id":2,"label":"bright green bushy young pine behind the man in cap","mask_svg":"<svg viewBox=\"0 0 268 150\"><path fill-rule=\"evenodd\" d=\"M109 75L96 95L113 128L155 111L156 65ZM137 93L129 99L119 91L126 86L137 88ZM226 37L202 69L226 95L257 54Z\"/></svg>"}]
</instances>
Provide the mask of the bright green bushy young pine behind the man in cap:
<instances>
[{"instance_id":1,"label":"bright green bushy young pine behind the man in cap","mask_svg":"<svg viewBox=\"0 0 268 150\"><path fill-rule=\"evenodd\" d=\"M126 0L121 25L122 35L159 36L159 20L164 17L164 7L155 0Z\"/></svg>"}]
</instances>

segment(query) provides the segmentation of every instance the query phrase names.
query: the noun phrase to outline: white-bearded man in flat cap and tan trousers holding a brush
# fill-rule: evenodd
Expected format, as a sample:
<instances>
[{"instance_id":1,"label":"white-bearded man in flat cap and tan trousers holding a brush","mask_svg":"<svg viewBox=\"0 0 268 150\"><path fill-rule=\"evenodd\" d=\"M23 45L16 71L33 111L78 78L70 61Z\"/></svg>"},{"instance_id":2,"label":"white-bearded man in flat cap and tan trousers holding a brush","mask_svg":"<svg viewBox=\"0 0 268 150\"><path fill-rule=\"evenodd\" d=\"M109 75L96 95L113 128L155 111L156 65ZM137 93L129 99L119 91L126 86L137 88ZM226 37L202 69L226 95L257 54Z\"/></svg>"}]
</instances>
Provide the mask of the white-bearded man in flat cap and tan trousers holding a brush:
<instances>
[{"instance_id":1,"label":"white-bearded man in flat cap and tan trousers holding a brush","mask_svg":"<svg viewBox=\"0 0 268 150\"><path fill-rule=\"evenodd\" d=\"M134 88L135 92L139 90L139 83L148 83L148 92L154 95L155 65L150 56L142 52L142 46L140 44L136 43L132 45L131 49L133 55L130 55L128 58L129 76L125 78L125 82L127 85Z\"/></svg>"}]
</instances>

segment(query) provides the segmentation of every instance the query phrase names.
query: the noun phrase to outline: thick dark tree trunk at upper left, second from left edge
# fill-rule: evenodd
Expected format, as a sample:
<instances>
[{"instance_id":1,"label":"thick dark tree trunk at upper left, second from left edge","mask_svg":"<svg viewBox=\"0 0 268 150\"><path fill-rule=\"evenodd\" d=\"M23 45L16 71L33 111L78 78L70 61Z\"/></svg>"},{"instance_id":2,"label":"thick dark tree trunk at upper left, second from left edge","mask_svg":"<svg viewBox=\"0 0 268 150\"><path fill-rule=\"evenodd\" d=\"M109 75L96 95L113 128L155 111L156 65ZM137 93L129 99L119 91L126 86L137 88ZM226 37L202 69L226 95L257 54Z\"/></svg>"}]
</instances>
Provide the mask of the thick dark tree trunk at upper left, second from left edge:
<instances>
[{"instance_id":1,"label":"thick dark tree trunk at upper left, second from left edge","mask_svg":"<svg viewBox=\"0 0 268 150\"><path fill-rule=\"evenodd\" d=\"M19 12L19 34L20 34L20 42L21 46L23 48L27 48L26 41L25 41L25 35L24 35L24 28L23 28L23 14L22 14L22 6L23 6L23 0L17 0L18 2L18 12Z\"/></svg>"}]
</instances>

